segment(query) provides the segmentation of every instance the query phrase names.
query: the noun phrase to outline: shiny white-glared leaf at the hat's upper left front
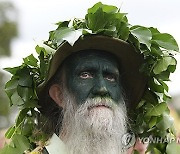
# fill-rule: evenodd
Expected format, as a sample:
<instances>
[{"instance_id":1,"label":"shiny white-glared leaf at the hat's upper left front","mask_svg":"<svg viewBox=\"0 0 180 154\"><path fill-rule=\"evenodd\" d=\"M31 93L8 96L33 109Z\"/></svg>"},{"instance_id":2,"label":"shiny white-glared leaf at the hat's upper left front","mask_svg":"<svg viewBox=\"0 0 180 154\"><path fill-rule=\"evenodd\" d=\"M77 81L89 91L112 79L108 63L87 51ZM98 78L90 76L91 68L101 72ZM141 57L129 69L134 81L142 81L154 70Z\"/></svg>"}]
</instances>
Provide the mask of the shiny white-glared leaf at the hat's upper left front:
<instances>
[{"instance_id":1,"label":"shiny white-glared leaf at the hat's upper left front","mask_svg":"<svg viewBox=\"0 0 180 154\"><path fill-rule=\"evenodd\" d=\"M71 46L73 46L82 35L82 29L75 30L74 28L62 27L54 31L54 33L54 39L57 41L58 45L63 41L67 41Z\"/></svg>"}]
</instances>

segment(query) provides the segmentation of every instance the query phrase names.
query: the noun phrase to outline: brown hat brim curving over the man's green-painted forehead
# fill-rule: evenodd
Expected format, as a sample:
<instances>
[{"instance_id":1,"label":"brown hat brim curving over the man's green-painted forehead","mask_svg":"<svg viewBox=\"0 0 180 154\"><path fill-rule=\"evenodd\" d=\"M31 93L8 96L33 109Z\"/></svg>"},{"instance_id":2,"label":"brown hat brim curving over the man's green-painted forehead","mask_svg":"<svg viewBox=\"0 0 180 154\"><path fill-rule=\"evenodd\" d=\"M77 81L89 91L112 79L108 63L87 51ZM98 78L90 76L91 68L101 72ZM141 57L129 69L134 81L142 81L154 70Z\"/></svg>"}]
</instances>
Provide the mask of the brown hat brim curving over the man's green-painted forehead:
<instances>
[{"instance_id":1,"label":"brown hat brim curving over the man's green-painted forehead","mask_svg":"<svg viewBox=\"0 0 180 154\"><path fill-rule=\"evenodd\" d=\"M52 78L69 55L86 49L107 51L119 59L125 99L131 107L135 107L143 95L147 82L146 77L139 71L143 57L129 43L120 39L92 35L80 38L73 46L67 42L63 43L52 58L48 78L44 84Z\"/></svg>"}]
</instances>

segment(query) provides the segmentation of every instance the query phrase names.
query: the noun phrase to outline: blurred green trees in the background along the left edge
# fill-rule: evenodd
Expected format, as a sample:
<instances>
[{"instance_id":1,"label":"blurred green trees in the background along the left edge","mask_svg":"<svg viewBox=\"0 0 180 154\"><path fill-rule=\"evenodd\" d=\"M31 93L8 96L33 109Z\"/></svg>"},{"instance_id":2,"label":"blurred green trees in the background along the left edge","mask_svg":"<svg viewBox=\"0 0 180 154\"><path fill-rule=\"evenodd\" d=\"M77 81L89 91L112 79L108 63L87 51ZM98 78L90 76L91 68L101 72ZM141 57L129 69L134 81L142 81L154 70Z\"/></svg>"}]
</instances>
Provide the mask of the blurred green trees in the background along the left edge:
<instances>
[{"instance_id":1,"label":"blurred green trees in the background along the left edge","mask_svg":"<svg viewBox=\"0 0 180 154\"><path fill-rule=\"evenodd\" d=\"M11 14L12 13L12 14ZM16 9L10 2L0 2L0 56L10 55L10 43L17 36L17 21L12 20L16 17ZM4 91L4 79L7 75L0 72L0 118L6 118L9 121L8 98ZM0 128L7 127L7 124L0 121Z\"/></svg>"}]
</instances>

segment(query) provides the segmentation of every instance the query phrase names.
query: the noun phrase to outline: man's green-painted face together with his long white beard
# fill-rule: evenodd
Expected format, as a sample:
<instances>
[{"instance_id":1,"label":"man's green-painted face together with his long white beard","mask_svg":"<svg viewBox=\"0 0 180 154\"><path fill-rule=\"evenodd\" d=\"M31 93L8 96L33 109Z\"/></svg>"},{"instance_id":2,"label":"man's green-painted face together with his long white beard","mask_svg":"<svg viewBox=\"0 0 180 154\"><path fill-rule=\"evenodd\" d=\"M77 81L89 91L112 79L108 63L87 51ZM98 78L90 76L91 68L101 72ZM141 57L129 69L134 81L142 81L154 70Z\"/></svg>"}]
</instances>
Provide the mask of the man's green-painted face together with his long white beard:
<instances>
[{"instance_id":1,"label":"man's green-painted face together with his long white beard","mask_svg":"<svg viewBox=\"0 0 180 154\"><path fill-rule=\"evenodd\" d=\"M69 153L122 153L127 120L116 58L102 51L80 51L65 61L64 71L60 138Z\"/></svg>"}]
</instances>

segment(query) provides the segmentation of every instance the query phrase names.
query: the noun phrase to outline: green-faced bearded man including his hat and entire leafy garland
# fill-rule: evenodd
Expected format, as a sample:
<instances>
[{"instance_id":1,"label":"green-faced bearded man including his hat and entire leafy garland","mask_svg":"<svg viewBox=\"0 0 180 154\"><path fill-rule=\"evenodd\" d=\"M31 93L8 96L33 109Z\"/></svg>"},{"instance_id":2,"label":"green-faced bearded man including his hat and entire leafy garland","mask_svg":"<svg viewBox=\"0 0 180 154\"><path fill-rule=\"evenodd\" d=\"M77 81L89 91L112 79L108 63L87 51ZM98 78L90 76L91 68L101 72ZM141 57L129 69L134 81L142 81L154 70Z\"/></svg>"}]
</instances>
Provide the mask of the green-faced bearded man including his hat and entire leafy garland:
<instances>
[{"instance_id":1,"label":"green-faced bearded man including his hat and entire leafy garland","mask_svg":"<svg viewBox=\"0 0 180 154\"><path fill-rule=\"evenodd\" d=\"M49 154L121 154L133 150L128 132L172 136L165 81L179 48L171 35L131 26L125 13L100 2L85 19L57 25L45 42L55 52L37 46L38 60L30 55L7 69L13 76L6 92L21 111L6 133L12 143L5 154L36 147ZM148 150L165 153L171 146L153 142Z\"/></svg>"}]
</instances>

